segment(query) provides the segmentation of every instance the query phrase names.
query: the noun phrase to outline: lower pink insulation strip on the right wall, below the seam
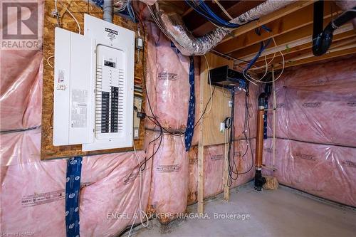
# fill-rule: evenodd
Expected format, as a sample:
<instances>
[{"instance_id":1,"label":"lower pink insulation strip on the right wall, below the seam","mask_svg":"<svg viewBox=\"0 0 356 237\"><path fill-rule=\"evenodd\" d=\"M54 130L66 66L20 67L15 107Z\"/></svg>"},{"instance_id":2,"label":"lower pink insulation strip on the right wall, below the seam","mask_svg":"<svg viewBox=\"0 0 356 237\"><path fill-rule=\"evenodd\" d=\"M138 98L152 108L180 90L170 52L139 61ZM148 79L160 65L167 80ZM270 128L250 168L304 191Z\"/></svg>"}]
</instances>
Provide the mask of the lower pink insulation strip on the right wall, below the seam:
<instances>
[{"instance_id":1,"label":"lower pink insulation strip on the right wall, below the seam","mask_svg":"<svg viewBox=\"0 0 356 237\"><path fill-rule=\"evenodd\" d=\"M272 166L271 140L264 144L263 162ZM356 148L276 140L276 172L281 184L325 199L356 206ZM273 174L272 174L273 173Z\"/></svg>"}]
</instances>

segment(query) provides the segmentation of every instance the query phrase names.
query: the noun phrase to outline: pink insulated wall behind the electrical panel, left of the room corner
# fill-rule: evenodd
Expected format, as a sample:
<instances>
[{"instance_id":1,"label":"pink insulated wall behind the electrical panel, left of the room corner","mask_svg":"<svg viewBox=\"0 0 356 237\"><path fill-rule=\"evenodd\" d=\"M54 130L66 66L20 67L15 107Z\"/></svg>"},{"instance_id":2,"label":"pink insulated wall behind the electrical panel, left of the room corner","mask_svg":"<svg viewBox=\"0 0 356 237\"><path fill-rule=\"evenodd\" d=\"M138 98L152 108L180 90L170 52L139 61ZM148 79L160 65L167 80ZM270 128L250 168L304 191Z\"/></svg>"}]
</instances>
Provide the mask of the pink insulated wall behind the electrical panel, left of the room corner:
<instances>
[{"instance_id":1,"label":"pink insulated wall behind the electrical panel, left of the room corner","mask_svg":"<svg viewBox=\"0 0 356 237\"><path fill-rule=\"evenodd\" d=\"M39 29L43 31L43 1L38 4ZM16 19L16 18L11 18ZM189 58L182 56L155 25L147 23L150 38L147 50L146 81L152 110L159 122L172 132L184 132L189 101ZM42 35L42 32L40 33ZM158 36L158 38L157 38ZM1 233L33 232L36 236L66 236L65 189L67 159L42 161L41 100L43 52L1 51L0 157L1 157ZM199 98L199 58L194 58L196 97ZM161 73L161 74L159 74ZM167 73L177 74L170 80ZM147 103L146 103L147 105ZM146 107L145 111L150 111ZM196 118L199 117L199 103ZM150 214L184 213L187 204L197 201L197 130L190 152L184 137L163 135L145 121L145 149L137 151L145 162L142 176L134 152L83 157L80 189L81 236L117 236L130 227L140 207ZM254 144L254 142L252 142ZM239 159L246 142L236 142L234 159L239 169L251 165L251 155ZM222 191L223 148L216 145L205 151L204 196ZM157 150L152 159L151 154ZM167 172L167 169L170 169ZM253 169L241 175L232 186L251 180ZM140 178L142 189L140 191ZM141 194L141 195L139 195ZM116 217L125 214L125 218ZM171 221L172 218L160 218Z\"/></svg>"}]
</instances>

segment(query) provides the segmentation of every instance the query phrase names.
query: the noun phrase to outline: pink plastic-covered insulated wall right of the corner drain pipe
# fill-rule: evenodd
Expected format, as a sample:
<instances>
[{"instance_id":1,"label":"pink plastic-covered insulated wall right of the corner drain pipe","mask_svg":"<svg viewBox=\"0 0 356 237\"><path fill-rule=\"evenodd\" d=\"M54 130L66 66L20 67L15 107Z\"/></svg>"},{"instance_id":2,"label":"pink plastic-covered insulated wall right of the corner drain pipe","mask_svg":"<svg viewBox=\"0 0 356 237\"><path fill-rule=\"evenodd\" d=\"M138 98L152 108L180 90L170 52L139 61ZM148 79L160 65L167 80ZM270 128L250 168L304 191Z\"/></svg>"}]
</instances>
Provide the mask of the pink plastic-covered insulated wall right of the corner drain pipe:
<instances>
[{"instance_id":1,"label":"pink plastic-covered insulated wall right of the corner drain pipe","mask_svg":"<svg viewBox=\"0 0 356 237\"><path fill-rule=\"evenodd\" d=\"M276 172L281 184L356 206L356 58L288 68L276 82ZM269 100L268 107L273 107ZM272 112L264 164L273 166Z\"/></svg>"}]
</instances>

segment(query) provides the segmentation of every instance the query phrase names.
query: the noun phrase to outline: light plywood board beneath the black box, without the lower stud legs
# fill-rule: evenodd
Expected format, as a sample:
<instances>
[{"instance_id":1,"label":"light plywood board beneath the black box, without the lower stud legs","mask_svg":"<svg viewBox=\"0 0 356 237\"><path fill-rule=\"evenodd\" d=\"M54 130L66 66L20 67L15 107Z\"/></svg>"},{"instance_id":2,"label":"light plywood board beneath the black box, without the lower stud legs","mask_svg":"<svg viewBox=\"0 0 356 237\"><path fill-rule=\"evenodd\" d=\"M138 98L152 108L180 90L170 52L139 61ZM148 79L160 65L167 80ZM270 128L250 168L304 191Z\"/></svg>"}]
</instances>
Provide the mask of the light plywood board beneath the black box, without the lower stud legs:
<instances>
[{"instance_id":1,"label":"light plywood board beneath the black box, without the lower stud legs","mask_svg":"<svg viewBox=\"0 0 356 237\"><path fill-rule=\"evenodd\" d=\"M212 53L206 54L206 60L208 60L209 68L218 68L223 65L229 65L229 68L233 68L233 61L221 58ZM203 102L204 106L208 102L211 91L208 83L208 69L206 66L206 60L201 57L201 86L203 87ZM214 86L211 87L214 90ZM231 107L229 107L229 101L231 96L228 90L224 90L216 86L214 95L212 98L211 110L210 105L207 106L207 113L204 115L203 120L203 137L202 144L204 146L213 144L223 144L225 142L224 132L220 132L220 123L223 122L226 117L231 115ZM209 112L208 112L209 111Z\"/></svg>"}]
</instances>

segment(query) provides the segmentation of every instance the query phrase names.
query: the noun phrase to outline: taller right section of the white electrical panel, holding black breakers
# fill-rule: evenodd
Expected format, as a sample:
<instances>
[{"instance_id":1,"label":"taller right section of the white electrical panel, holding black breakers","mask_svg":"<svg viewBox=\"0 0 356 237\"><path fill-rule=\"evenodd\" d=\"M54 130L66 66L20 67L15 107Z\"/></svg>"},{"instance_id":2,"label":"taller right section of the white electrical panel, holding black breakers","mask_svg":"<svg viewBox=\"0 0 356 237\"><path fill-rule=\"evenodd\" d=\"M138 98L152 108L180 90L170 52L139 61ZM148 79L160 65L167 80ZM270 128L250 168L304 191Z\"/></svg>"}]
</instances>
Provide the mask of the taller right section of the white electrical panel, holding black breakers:
<instances>
[{"instance_id":1,"label":"taller right section of the white electrical panel, holding black breakers","mask_svg":"<svg viewBox=\"0 0 356 237\"><path fill-rule=\"evenodd\" d=\"M95 136L83 151L131 147L135 33L85 14L85 36L96 42Z\"/></svg>"}]
</instances>

